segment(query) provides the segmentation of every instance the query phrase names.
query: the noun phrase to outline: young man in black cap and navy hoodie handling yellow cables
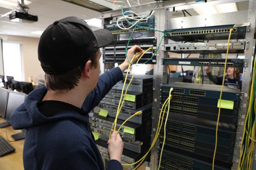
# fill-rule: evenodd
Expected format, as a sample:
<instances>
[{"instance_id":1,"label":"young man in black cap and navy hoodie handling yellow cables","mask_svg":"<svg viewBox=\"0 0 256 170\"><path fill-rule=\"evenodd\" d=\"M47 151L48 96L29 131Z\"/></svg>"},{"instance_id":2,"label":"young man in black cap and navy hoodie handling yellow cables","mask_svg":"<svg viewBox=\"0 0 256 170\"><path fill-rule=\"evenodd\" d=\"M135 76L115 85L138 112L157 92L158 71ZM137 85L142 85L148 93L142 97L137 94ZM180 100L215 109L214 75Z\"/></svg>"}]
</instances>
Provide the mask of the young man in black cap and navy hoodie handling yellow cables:
<instances>
[{"instance_id":1,"label":"young man in black cap and navy hoodie handling yellow cables","mask_svg":"<svg viewBox=\"0 0 256 170\"><path fill-rule=\"evenodd\" d=\"M93 32L76 17L55 21L41 35L38 59L46 87L32 91L11 116L14 129L26 129L25 170L104 170L88 113L128 68L125 60L99 77L99 48L112 41L110 31ZM137 45L129 49L129 60L140 51ZM122 150L122 139L113 132L108 170L122 169Z\"/></svg>"}]
</instances>

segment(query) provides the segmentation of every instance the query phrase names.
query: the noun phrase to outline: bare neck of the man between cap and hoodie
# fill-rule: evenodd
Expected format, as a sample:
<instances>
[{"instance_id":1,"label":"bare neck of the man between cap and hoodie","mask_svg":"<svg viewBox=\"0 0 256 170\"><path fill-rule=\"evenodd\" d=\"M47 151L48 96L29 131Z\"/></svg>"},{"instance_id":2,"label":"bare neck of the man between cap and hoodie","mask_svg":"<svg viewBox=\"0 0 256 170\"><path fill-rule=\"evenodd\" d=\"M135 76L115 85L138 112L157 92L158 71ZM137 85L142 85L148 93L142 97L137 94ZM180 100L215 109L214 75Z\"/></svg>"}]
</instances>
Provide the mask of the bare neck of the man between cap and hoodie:
<instances>
[{"instance_id":1,"label":"bare neck of the man between cap and hoodie","mask_svg":"<svg viewBox=\"0 0 256 170\"><path fill-rule=\"evenodd\" d=\"M84 88L81 90L79 85L73 88L72 90L61 90L61 91L48 90L47 94L44 96L42 101L57 100L57 101L66 102L78 108L81 108L84 102L84 99L89 93L90 93L90 90L87 91Z\"/></svg>"}]
</instances>

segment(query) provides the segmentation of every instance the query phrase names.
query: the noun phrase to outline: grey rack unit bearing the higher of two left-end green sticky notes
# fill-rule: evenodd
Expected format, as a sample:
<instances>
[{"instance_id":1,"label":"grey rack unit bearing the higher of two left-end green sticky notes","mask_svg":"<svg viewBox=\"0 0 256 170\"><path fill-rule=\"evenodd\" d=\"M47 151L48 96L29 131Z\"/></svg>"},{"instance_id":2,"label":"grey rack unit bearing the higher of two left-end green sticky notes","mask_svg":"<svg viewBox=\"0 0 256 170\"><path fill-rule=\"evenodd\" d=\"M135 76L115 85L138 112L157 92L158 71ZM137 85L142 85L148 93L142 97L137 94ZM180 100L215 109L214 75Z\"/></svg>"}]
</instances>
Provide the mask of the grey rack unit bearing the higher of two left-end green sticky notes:
<instances>
[{"instance_id":1,"label":"grey rack unit bearing the higher of two left-end green sticky notes","mask_svg":"<svg viewBox=\"0 0 256 170\"><path fill-rule=\"evenodd\" d=\"M99 113L100 109L104 109L108 111L108 116L115 118L116 117L116 111L117 107L113 105L105 105L100 103L98 107L93 109L94 113ZM136 113L137 111L142 111L141 114L137 116L133 116L131 119L128 120L128 122L133 122L137 124L142 124L142 120L151 120L151 112L152 112L152 104L146 105L142 108L139 108L137 110L132 110L132 109L127 109L127 108L122 108L119 115L118 119L121 120L126 120L128 119L131 115Z\"/></svg>"}]
</instances>

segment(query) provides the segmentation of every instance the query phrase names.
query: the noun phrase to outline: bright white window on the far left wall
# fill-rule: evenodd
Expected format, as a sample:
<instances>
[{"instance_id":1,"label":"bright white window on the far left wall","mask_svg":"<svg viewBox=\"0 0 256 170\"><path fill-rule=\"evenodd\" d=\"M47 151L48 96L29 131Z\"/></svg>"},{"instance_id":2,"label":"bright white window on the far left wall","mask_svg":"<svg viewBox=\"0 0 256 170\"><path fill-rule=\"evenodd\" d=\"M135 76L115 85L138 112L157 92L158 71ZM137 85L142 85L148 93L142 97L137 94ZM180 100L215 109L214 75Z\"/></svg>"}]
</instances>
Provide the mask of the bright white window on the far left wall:
<instances>
[{"instance_id":1,"label":"bright white window on the far left wall","mask_svg":"<svg viewBox=\"0 0 256 170\"><path fill-rule=\"evenodd\" d=\"M3 69L6 76L17 81L23 80L20 43L3 41Z\"/></svg>"}]
</instances>

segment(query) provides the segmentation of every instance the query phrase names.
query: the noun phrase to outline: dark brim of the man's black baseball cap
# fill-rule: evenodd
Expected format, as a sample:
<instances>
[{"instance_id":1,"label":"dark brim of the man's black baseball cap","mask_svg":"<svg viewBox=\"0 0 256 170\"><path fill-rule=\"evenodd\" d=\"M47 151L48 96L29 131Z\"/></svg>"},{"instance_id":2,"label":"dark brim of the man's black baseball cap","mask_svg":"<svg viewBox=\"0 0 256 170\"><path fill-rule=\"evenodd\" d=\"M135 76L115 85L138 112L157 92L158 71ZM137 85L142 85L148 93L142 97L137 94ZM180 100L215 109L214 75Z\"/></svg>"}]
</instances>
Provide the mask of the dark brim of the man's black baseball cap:
<instances>
[{"instance_id":1,"label":"dark brim of the man's black baseball cap","mask_svg":"<svg viewBox=\"0 0 256 170\"><path fill-rule=\"evenodd\" d=\"M107 29L93 31L98 40L98 48L105 47L113 41L113 34Z\"/></svg>"}]
</instances>

